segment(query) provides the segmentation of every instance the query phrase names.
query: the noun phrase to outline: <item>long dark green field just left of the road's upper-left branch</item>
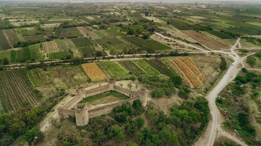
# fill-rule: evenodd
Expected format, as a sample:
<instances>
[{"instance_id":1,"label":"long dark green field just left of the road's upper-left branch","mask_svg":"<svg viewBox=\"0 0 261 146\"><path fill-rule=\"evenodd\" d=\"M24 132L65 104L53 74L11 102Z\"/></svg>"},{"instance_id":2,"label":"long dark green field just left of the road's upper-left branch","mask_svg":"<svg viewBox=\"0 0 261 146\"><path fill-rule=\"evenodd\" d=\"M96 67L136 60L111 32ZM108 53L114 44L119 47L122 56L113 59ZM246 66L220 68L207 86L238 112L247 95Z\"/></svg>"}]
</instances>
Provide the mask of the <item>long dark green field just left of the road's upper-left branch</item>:
<instances>
[{"instance_id":1,"label":"long dark green field just left of the road's upper-left branch","mask_svg":"<svg viewBox=\"0 0 261 146\"><path fill-rule=\"evenodd\" d=\"M142 50L146 51L156 51L156 50L166 50L171 49L169 46L166 46L162 43L159 43L151 39L141 39L138 37L122 37L130 43L140 47Z\"/></svg>"}]
</instances>

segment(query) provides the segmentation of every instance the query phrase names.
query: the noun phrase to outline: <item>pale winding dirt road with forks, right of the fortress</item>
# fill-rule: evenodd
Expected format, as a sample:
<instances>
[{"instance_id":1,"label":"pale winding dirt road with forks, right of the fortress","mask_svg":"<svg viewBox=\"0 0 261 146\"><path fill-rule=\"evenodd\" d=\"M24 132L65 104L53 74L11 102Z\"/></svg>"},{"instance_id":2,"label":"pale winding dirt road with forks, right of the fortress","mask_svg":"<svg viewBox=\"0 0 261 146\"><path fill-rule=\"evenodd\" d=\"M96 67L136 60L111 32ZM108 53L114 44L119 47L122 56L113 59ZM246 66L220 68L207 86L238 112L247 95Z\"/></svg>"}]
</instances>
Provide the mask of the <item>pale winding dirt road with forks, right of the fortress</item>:
<instances>
[{"instance_id":1,"label":"pale winding dirt road with forks, right of the fortress","mask_svg":"<svg viewBox=\"0 0 261 146\"><path fill-rule=\"evenodd\" d=\"M210 114L212 116L212 119L209 122L207 129L205 130L203 135L201 135L201 137L198 139L198 141L195 142L194 146L213 146L216 138L220 135L225 136L225 137L237 142L238 144L240 144L242 146L247 146L245 143L240 141L236 136L233 136L230 133L225 132L221 128L221 124L222 124L221 114L220 114L218 107L216 105L216 98L218 97L218 93L220 91L222 91L231 81L233 81L235 79L235 77L237 76L237 74L239 73L241 68L245 67L243 60L247 56L249 56L249 55L246 55L244 57L240 57L237 53L235 53L234 49L236 49L236 46L239 44L240 38L238 38L237 42L229 49L230 52L224 52L224 51L214 51L214 50L206 51L206 50L203 50L201 48L195 47L193 45L175 40L173 38L165 37L165 36L163 36L159 33L155 33L155 34L159 35L160 37L171 39L171 40L180 42L184 45L194 47L197 50L202 51L202 53L215 52L215 53L219 53L219 54L222 54L222 55L227 55L234 60L233 65L230 66L230 68L224 74L222 79L213 88L213 90L210 91L208 93L208 95L206 96L206 99L209 102L209 109L210 109ZM253 55L253 54L250 54L250 55Z\"/></svg>"}]
</instances>

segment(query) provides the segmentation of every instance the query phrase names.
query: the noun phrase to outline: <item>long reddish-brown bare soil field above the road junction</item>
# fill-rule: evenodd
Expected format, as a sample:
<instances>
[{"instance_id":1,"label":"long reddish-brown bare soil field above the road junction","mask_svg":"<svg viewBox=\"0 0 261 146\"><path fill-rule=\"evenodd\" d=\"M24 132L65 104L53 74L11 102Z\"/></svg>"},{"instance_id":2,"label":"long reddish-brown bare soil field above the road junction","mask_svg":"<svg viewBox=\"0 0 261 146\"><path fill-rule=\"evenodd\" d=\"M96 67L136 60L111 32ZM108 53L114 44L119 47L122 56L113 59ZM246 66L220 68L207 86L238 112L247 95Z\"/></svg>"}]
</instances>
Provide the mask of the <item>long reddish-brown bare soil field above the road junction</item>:
<instances>
[{"instance_id":1,"label":"long reddish-brown bare soil field above the road junction","mask_svg":"<svg viewBox=\"0 0 261 146\"><path fill-rule=\"evenodd\" d=\"M216 41L213 38L207 37L204 34L200 34L194 30L186 30L186 31L181 31L182 33L188 35L189 37L192 37L196 41L206 45L209 48L212 49L220 49L220 48L228 48L229 46L226 44L223 44L219 41Z\"/></svg>"}]
</instances>

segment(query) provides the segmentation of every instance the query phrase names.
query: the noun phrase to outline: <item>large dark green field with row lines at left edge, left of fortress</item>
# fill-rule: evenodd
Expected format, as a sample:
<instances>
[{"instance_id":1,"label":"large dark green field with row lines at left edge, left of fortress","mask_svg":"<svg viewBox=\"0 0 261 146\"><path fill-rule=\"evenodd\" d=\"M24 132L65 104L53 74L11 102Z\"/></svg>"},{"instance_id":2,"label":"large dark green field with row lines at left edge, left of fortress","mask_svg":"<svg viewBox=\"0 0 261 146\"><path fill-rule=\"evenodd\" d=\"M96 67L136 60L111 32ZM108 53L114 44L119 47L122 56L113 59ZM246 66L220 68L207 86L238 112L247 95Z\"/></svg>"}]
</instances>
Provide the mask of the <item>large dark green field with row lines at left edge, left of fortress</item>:
<instances>
[{"instance_id":1,"label":"large dark green field with row lines at left edge, left of fortress","mask_svg":"<svg viewBox=\"0 0 261 146\"><path fill-rule=\"evenodd\" d=\"M26 70L0 72L0 99L5 112L14 112L26 103L32 106L41 102L28 79Z\"/></svg>"}]
</instances>

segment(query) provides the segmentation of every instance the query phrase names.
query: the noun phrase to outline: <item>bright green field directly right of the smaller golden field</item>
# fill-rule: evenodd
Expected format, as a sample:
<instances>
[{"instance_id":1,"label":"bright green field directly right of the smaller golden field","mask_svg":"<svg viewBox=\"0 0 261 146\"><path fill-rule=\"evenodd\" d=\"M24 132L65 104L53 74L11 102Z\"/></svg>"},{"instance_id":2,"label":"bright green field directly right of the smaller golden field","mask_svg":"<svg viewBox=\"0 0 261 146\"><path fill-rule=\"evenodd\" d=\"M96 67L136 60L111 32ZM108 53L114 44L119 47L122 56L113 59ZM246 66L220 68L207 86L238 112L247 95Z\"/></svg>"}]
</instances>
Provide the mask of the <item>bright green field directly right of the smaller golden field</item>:
<instances>
[{"instance_id":1,"label":"bright green field directly right of the smaller golden field","mask_svg":"<svg viewBox=\"0 0 261 146\"><path fill-rule=\"evenodd\" d=\"M119 63L98 62L97 65L100 69L104 69L107 73L109 73L110 77L114 77L121 80L129 77L129 72Z\"/></svg>"}]
</instances>

